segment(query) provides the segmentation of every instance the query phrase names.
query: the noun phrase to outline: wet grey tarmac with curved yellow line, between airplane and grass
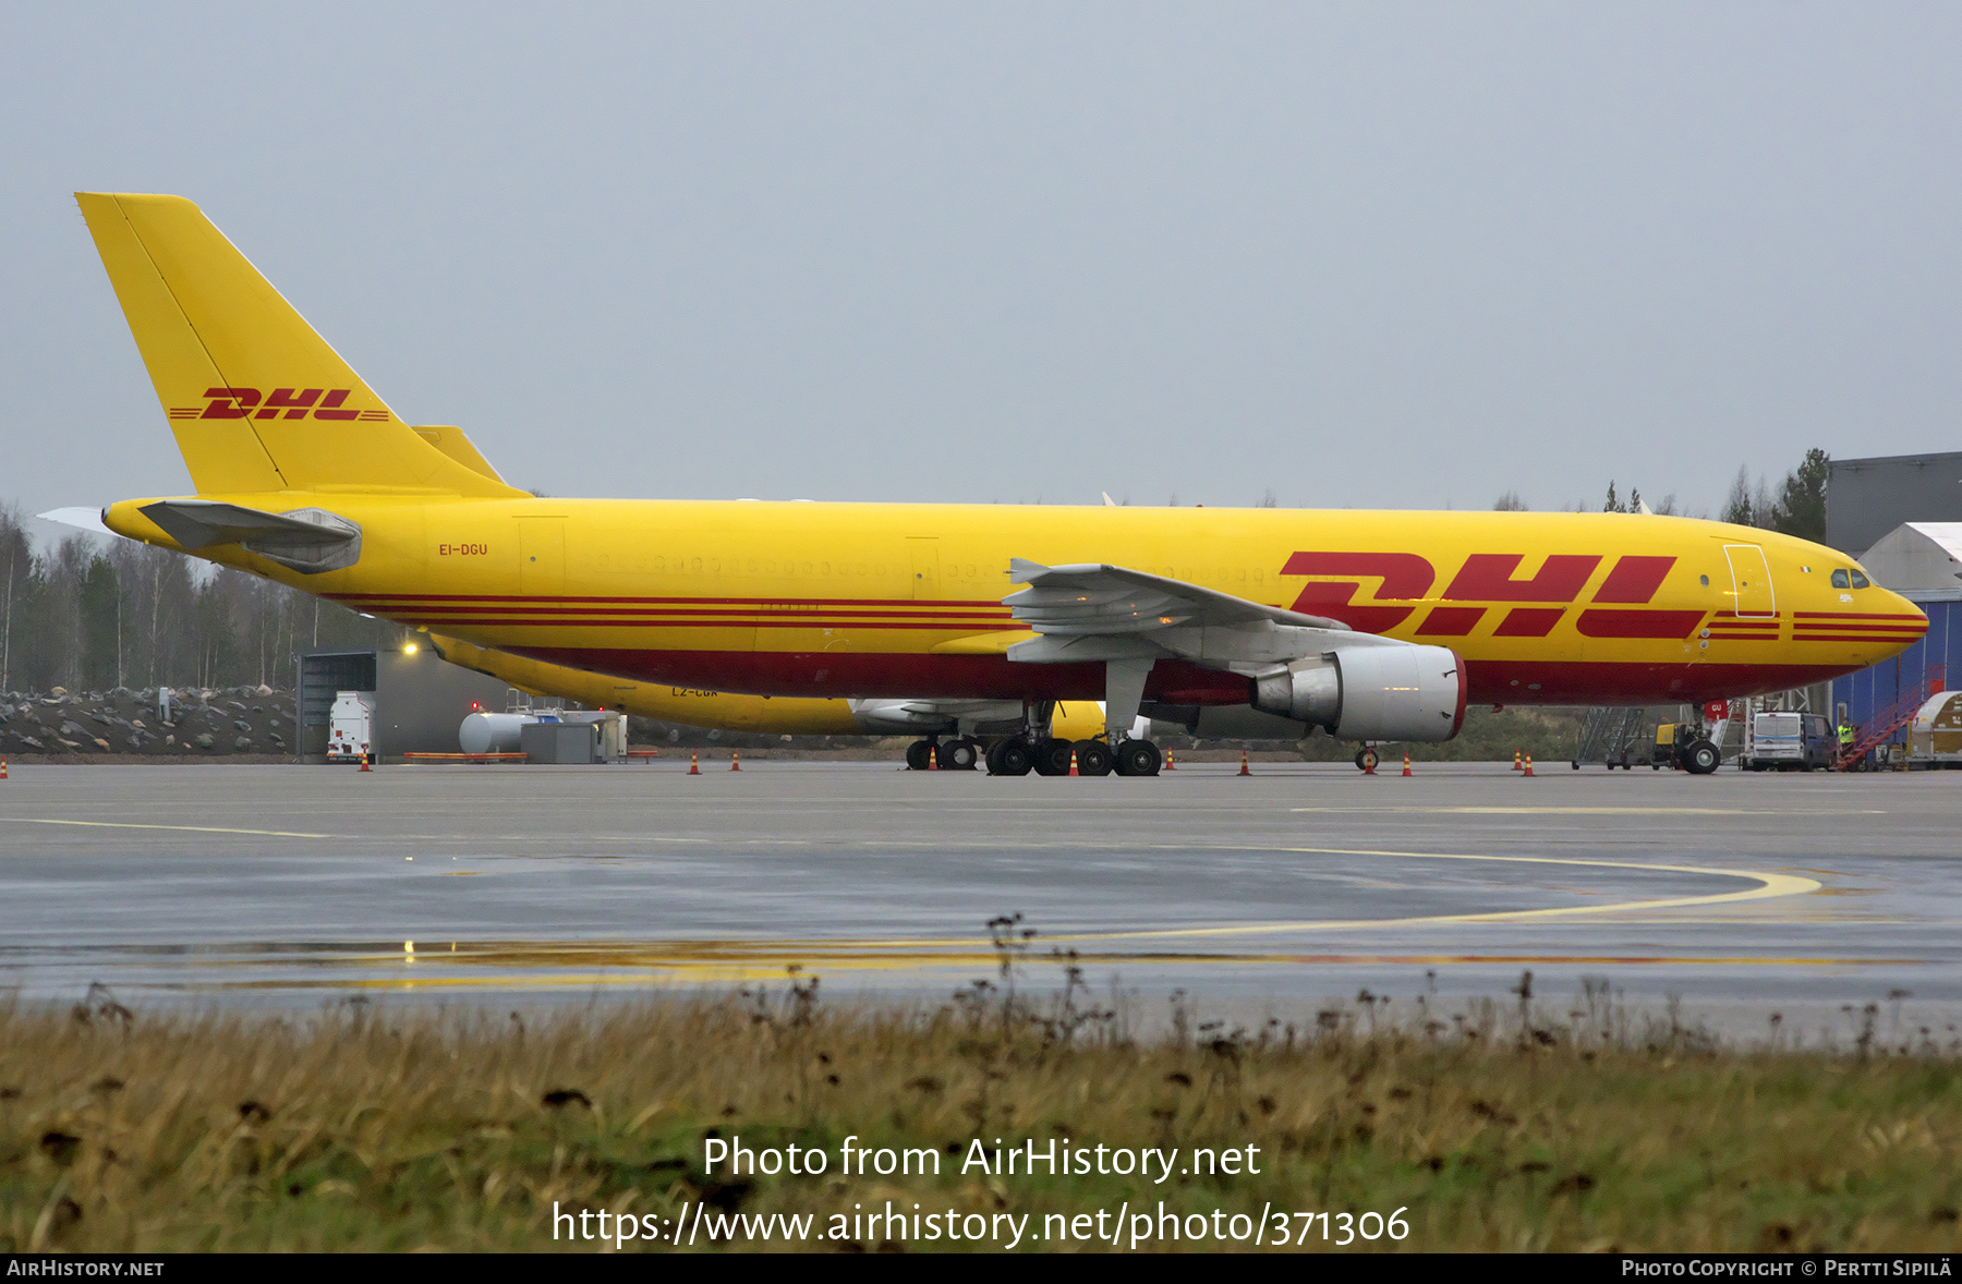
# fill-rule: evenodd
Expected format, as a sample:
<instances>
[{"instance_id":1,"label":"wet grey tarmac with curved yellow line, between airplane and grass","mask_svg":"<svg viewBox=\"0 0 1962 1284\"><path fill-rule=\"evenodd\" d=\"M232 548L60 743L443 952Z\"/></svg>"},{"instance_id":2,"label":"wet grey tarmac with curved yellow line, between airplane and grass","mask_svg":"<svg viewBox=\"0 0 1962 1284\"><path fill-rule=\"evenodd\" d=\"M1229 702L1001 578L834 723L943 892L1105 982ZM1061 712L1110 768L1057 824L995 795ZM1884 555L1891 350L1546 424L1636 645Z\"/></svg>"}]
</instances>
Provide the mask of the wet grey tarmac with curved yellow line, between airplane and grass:
<instances>
[{"instance_id":1,"label":"wet grey tarmac with curved yellow line, between airplane and grass","mask_svg":"<svg viewBox=\"0 0 1962 1284\"><path fill-rule=\"evenodd\" d=\"M1729 1021L1962 1013L1962 774L1220 764L82 766L0 783L0 986L77 999L557 1001L773 982L940 997L1075 950L1236 1011L1362 990ZM1901 995L1899 991L1907 991Z\"/></svg>"}]
</instances>

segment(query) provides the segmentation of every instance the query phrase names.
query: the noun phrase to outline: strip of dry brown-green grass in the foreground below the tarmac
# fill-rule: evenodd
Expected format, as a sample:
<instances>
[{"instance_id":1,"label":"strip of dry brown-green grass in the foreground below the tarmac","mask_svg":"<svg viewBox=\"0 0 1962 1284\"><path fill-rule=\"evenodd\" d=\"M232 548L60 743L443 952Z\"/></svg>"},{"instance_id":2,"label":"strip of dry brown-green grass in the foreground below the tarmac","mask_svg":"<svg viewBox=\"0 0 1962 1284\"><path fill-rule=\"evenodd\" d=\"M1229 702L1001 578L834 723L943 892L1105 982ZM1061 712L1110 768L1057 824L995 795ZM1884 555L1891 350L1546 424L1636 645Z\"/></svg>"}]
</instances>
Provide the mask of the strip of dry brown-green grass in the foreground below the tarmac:
<instances>
[{"instance_id":1,"label":"strip of dry brown-green grass in the foreground below the tarmac","mask_svg":"<svg viewBox=\"0 0 1962 1284\"><path fill-rule=\"evenodd\" d=\"M553 1202L673 1215L704 1196L742 1211L922 1202L1036 1225L1126 1200L1407 1207L1401 1247L1430 1251L1962 1239L1958 1062L1935 1048L1723 1050L1617 1017L1538 1027L1491 1003L1371 1031L1377 1015L1360 1003L1317 1031L1256 1035L1181 1019L1132 1041L1075 990L1040 1007L981 991L826 1011L779 991L308 1019L128 1015L96 993L75 1011L0 1011L0 1249L530 1251L555 1247ZM824 1178L710 1180L710 1129L832 1154L853 1133L936 1147L946 1176L840 1178L834 1162ZM1256 1145L1262 1174L961 1178L946 1154L1024 1135Z\"/></svg>"}]
</instances>

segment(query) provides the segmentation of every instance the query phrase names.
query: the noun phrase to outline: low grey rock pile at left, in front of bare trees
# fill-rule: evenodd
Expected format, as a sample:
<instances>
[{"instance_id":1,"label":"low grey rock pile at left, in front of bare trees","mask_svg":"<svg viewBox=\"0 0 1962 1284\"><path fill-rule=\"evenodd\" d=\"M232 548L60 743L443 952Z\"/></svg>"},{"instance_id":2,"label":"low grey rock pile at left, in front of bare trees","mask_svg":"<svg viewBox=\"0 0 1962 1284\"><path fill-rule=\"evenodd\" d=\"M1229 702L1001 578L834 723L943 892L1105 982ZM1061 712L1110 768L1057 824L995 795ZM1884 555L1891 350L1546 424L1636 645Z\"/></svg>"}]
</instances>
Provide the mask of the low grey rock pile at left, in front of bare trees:
<instances>
[{"instance_id":1,"label":"low grey rock pile at left, in front of bare trees","mask_svg":"<svg viewBox=\"0 0 1962 1284\"><path fill-rule=\"evenodd\" d=\"M155 687L0 691L0 754L290 754L292 734L292 691L271 687L171 687L169 717Z\"/></svg>"}]
</instances>

